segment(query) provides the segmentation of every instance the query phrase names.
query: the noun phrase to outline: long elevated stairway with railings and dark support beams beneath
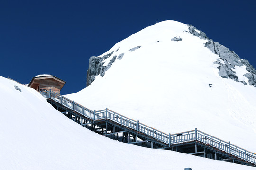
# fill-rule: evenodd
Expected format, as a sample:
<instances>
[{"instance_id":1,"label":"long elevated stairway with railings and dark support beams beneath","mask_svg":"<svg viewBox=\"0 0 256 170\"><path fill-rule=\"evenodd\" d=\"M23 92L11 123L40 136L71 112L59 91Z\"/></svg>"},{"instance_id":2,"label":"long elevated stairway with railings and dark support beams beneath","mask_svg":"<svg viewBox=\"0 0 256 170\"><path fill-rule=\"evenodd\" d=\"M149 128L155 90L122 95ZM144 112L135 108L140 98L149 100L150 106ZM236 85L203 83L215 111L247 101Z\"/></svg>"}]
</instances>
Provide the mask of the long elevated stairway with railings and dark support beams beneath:
<instances>
[{"instance_id":1,"label":"long elevated stairway with railings and dark support beams beneath","mask_svg":"<svg viewBox=\"0 0 256 170\"><path fill-rule=\"evenodd\" d=\"M92 111L53 91L41 92L55 109L96 133L128 144L173 150L219 161L256 166L256 154L200 130L166 134L112 110Z\"/></svg>"}]
</instances>

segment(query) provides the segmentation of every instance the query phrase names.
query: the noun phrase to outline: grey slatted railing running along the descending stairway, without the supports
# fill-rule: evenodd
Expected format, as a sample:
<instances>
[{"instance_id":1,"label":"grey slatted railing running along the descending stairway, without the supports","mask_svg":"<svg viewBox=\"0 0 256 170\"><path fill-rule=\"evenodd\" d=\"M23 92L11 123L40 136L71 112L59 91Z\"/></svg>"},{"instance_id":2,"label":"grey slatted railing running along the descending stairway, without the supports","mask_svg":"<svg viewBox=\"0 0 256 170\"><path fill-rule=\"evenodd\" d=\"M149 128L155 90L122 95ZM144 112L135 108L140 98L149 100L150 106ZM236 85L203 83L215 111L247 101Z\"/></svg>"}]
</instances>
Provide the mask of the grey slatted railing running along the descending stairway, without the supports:
<instances>
[{"instance_id":1,"label":"grey slatted railing running along the descending stairway, without the supports","mask_svg":"<svg viewBox=\"0 0 256 170\"><path fill-rule=\"evenodd\" d=\"M116 113L109 109L99 110L99 111L92 111L58 93L53 91L45 91L40 92L45 98L50 98L59 104L76 111L83 116L93 120L101 120L101 119L110 119L114 122L119 123L121 126L129 127L133 130L136 130L138 133L143 133L147 136L153 137L156 140L159 140L165 144L168 144L169 147L176 144L183 144L192 141L200 141L205 144L209 144L212 147L215 147L219 150L222 150L226 153L232 154L237 156L245 161L251 162L256 164L256 154L249 152L245 149L242 149L236 145L230 144L230 142L223 141L217 137L210 136L200 130L192 130L187 132L182 132L178 134L166 134L155 128L146 126L139 121L135 121L128 117L125 117L119 113Z\"/></svg>"}]
</instances>

